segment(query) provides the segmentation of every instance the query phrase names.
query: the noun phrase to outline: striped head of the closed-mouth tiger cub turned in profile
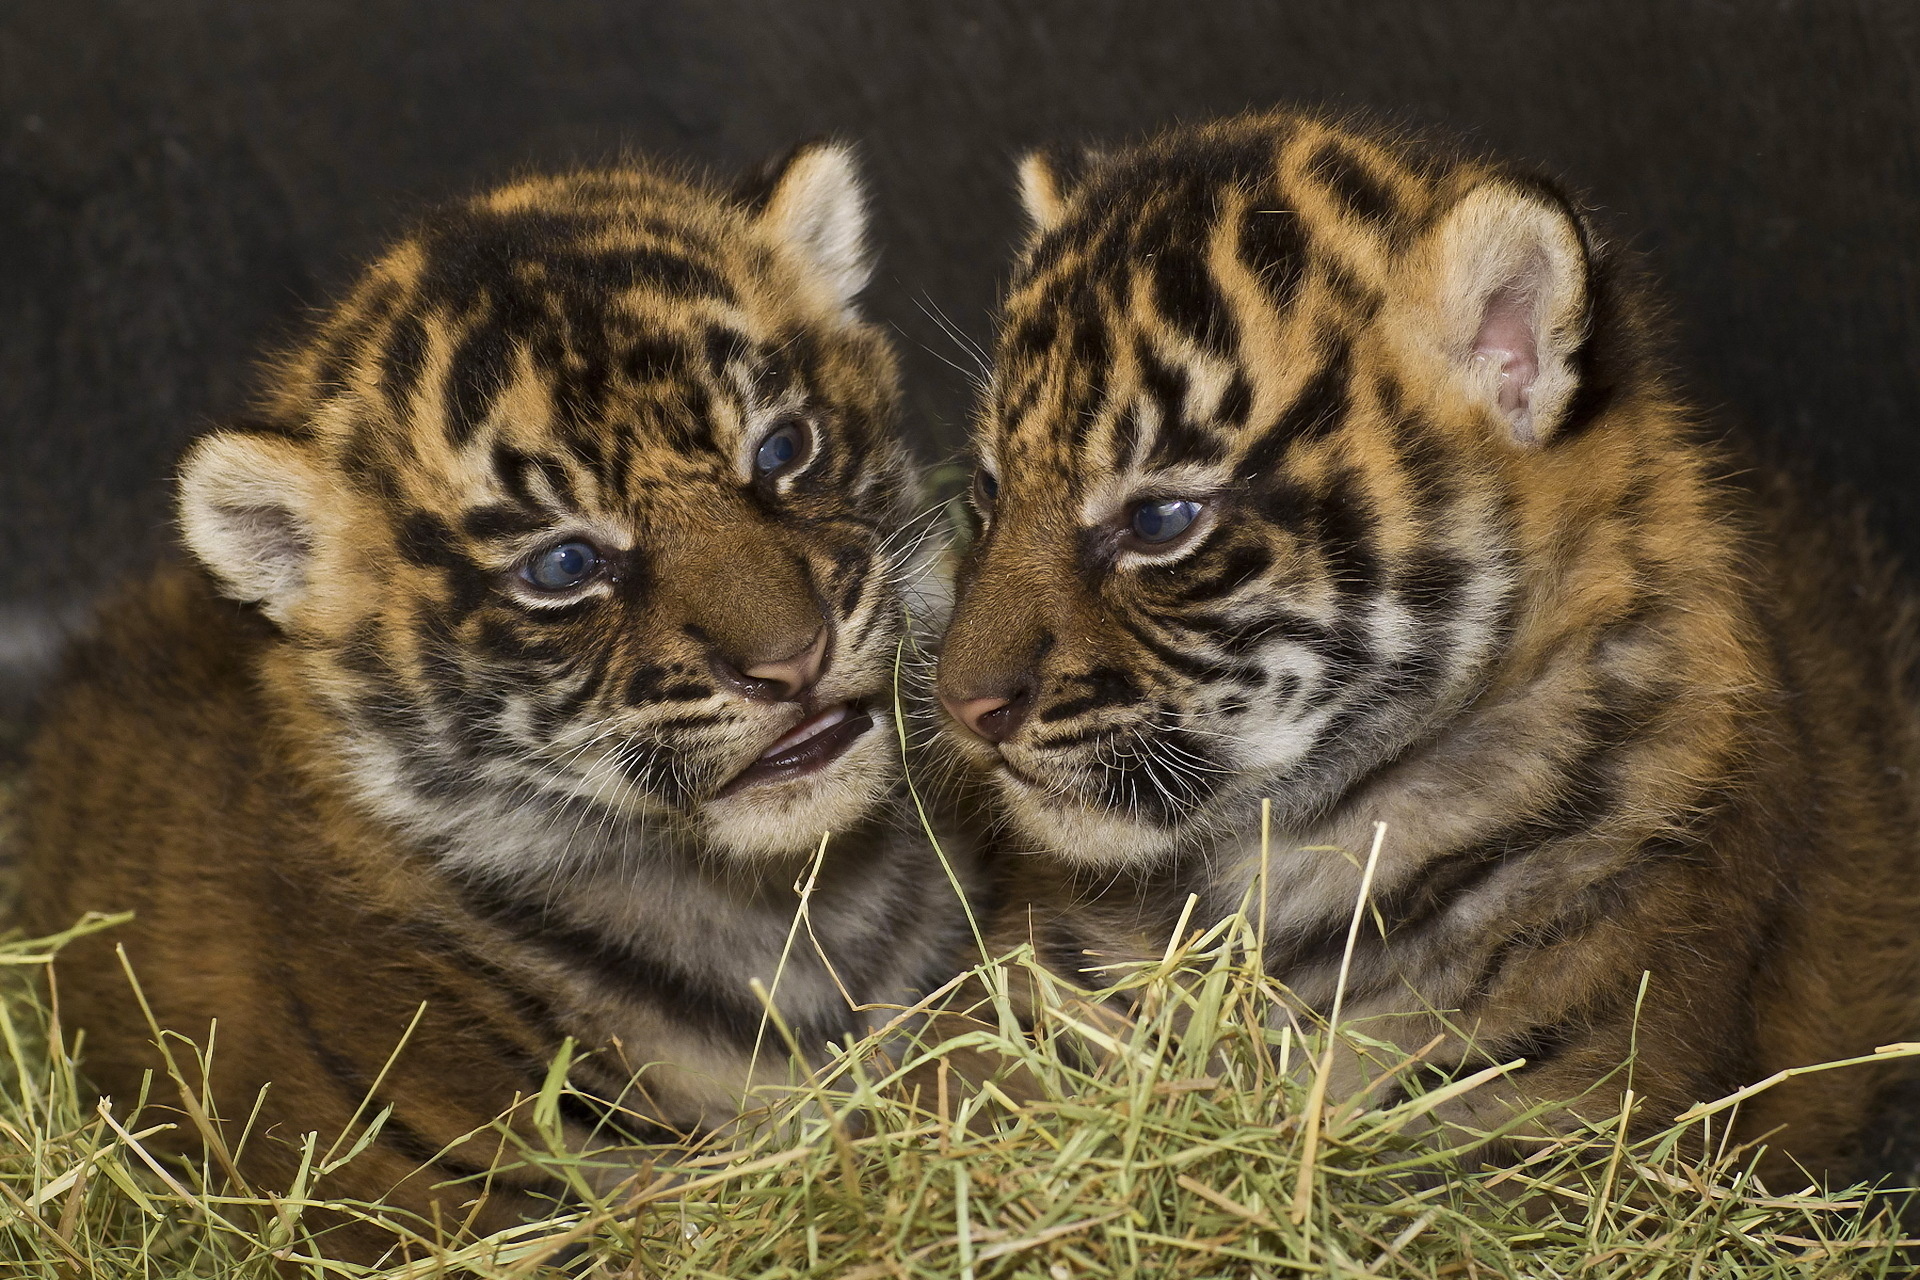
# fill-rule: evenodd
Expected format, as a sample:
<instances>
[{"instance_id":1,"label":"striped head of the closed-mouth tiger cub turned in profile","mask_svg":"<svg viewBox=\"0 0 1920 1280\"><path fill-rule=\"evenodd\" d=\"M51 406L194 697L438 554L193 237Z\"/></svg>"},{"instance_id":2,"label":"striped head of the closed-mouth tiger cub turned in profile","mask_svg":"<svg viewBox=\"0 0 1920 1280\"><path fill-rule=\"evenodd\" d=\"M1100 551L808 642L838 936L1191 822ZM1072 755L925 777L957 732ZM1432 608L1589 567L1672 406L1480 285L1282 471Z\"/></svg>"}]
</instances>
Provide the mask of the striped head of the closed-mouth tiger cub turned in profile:
<instances>
[{"instance_id":1,"label":"striped head of the closed-mouth tiger cub turned in profile","mask_svg":"<svg viewBox=\"0 0 1920 1280\"><path fill-rule=\"evenodd\" d=\"M939 689L1052 850L1327 812L1538 660L1574 532L1659 499L1638 326L1534 178L1275 115L1021 188Z\"/></svg>"}]
</instances>

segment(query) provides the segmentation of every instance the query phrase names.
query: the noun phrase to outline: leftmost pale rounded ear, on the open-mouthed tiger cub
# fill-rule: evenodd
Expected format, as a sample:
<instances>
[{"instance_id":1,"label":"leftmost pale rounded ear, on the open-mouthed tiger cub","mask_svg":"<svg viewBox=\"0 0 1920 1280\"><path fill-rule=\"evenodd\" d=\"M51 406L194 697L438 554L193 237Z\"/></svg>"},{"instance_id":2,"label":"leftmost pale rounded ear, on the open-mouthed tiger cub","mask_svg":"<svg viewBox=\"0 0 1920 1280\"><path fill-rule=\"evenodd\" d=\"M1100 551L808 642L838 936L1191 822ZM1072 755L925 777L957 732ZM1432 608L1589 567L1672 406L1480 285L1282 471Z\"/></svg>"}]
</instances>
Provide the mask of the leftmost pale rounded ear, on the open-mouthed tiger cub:
<instances>
[{"instance_id":1,"label":"leftmost pale rounded ear, on the open-mouthed tiger cub","mask_svg":"<svg viewBox=\"0 0 1920 1280\"><path fill-rule=\"evenodd\" d=\"M284 624L307 591L321 472L282 436L215 432L180 464L177 512L188 551L223 595Z\"/></svg>"}]
</instances>

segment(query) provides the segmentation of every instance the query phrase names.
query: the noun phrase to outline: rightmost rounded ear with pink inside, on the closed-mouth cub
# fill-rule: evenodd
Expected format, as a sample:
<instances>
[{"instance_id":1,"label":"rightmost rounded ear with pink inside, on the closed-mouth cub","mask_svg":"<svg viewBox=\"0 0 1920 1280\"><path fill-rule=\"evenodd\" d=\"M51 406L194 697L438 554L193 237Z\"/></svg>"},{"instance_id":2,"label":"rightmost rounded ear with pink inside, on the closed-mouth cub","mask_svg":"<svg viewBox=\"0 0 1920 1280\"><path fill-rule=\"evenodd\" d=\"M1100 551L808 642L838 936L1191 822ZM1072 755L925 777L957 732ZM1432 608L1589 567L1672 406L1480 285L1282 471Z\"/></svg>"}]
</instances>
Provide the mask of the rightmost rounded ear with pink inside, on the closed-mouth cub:
<instances>
[{"instance_id":1,"label":"rightmost rounded ear with pink inside, on the closed-mouth cub","mask_svg":"<svg viewBox=\"0 0 1920 1280\"><path fill-rule=\"evenodd\" d=\"M1580 386L1588 338L1580 223L1548 192L1488 182L1442 217L1428 244L1432 338L1513 443L1548 443Z\"/></svg>"}]
</instances>

